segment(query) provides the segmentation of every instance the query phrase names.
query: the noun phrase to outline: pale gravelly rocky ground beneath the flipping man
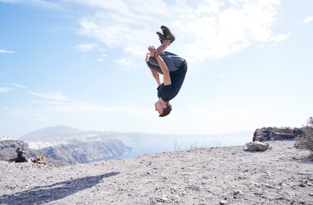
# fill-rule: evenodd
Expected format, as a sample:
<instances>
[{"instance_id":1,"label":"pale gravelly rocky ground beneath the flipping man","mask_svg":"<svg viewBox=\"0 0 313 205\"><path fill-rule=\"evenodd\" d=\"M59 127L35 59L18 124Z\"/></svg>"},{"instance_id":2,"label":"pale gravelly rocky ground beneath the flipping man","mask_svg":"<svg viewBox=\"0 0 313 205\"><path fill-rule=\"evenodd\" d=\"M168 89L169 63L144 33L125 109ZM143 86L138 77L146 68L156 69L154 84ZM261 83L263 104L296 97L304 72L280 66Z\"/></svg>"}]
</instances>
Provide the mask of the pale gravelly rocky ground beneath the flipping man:
<instances>
[{"instance_id":1,"label":"pale gravelly rocky ground beneath the flipping man","mask_svg":"<svg viewBox=\"0 0 313 205\"><path fill-rule=\"evenodd\" d=\"M313 205L313 161L293 141L51 167L0 162L0 204Z\"/></svg>"}]
</instances>

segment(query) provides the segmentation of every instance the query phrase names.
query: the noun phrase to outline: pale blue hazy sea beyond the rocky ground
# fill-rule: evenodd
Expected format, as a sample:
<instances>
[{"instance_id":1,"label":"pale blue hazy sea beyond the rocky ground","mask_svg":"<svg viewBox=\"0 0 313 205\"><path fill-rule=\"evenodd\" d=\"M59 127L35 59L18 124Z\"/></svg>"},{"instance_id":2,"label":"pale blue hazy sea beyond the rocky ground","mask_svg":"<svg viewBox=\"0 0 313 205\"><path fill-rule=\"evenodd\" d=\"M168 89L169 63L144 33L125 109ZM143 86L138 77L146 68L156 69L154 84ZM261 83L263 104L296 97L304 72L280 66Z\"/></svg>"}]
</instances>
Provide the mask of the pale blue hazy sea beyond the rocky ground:
<instances>
[{"instance_id":1,"label":"pale blue hazy sea beyond the rocky ground","mask_svg":"<svg viewBox=\"0 0 313 205\"><path fill-rule=\"evenodd\" d=\"M245 145L248 142L252 142L253 132L254 130L248 130L219 135L173 136L173 138L157 142L125 144L126 146L132 147L132 151L111 157L94 159L90 162L135 158L146 154L173 152L195 148Z\"/></svg>"}]
</instances>

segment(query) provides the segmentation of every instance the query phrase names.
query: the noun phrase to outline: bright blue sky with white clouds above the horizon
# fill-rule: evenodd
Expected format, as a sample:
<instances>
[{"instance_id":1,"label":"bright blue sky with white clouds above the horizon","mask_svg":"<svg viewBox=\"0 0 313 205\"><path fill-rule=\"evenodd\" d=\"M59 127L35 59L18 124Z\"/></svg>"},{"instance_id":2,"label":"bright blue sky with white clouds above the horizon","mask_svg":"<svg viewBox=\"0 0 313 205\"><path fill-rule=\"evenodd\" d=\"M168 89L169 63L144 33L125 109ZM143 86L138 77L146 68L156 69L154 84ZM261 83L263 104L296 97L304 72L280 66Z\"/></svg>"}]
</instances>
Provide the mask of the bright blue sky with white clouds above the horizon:
<instances>
[{"instance_id":1,"label":"bright blue sky with white clouds above the horizon","mask_svg":"<svg viewBox=\"0 0 313 205\"><path fill-rule=\"evenodd\" d=\"M144 61L161 25L188 63L163 118ZM312 0L0 0L0 136L300 127L313 116L312 37Z\"/></svg>"}]
</instances>

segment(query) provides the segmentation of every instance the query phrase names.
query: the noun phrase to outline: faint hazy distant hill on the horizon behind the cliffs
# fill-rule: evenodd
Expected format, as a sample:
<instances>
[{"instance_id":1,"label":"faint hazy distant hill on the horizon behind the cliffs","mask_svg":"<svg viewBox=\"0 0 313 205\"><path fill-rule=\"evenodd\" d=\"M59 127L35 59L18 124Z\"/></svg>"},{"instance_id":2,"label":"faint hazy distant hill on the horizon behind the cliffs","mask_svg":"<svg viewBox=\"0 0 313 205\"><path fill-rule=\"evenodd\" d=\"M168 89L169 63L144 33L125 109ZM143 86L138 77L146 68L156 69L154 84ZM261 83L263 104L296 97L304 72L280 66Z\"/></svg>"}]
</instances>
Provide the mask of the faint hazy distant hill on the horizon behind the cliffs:
<instances>
[{"instance_id":1,"label":"faint hazy distant hill on the horizon behind the cliffs","mask_svg":"<svg viewBox=\"0 0 313 205\"><path fill-rule=\"evenodd\" d=\"M105 141L109 139L121 140L124 143L147 143L165 140L171 135L147 134L147 133L123 133L86 131L68 126L53 126L35 130L22 136L20 139L30 141L62 141L79 140L82 142ZM57 143L57 142L55 142Z\"/></svg>"}]
</instances>

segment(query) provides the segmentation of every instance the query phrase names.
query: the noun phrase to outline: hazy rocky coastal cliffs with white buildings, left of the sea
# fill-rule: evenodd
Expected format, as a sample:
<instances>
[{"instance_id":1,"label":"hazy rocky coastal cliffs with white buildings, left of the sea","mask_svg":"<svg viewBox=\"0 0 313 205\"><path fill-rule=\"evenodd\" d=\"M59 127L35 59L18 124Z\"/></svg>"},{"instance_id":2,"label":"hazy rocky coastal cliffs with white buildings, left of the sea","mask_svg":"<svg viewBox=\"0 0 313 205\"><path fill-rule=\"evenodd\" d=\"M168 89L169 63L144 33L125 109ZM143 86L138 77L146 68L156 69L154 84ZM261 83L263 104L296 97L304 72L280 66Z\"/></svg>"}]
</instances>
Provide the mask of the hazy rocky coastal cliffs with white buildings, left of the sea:
<instances>
[{"instance_id":1,"label":"hazy rocky coastal cliffs with white buildings, left of the sea","mask_svg":"<svg viewBox=\"0 0 313 205\"><path fill-rule=\"evenodd\" d=\"M22 140L0 141L0 160L8 161L16 158L16 148L22 147L26 159L34 159L36 156L45 156L48 162L54 165L69 165L88 163L95 158L108 157L131 151L132 148L125 146L119 140L106 140L102 142L80 142L69 141L67 144L60 144L44 149L31 149Z\"/></svg>"}]
</instances>

